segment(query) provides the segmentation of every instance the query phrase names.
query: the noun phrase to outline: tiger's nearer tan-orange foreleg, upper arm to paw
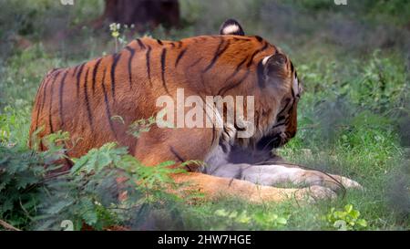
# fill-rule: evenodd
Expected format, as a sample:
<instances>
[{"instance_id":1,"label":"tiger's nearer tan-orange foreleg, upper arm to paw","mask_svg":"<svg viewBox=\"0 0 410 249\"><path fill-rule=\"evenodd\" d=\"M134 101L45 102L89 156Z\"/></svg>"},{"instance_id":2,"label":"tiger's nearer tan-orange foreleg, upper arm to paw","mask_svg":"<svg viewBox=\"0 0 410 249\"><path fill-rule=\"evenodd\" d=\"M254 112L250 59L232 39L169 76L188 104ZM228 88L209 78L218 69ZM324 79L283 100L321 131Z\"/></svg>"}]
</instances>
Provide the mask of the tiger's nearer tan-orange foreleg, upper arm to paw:
<instances>
[{"instance_id":1,"label":"tiger's nearer tan-orange foreleg, upper arm to paw","mask_svg":"<svg viewBox=\"0 0 410 249\"><path fill-rule=\"evenodd\" d=\"M155 167L163 161L204 160L207 150L211 149L212 131L201 130L150 130L138 139L134 155L145 165ZM206 130L205 130L206 131ZM208 149L206 145L209 145ZM313 198L332 198L334 192L322 186L303 189L284 189L261 186L252 182L222 178L196 172L190 168L187 173L172 175L175 182L187 182L189 188L202 192L206 198L220 195L241 197L251 202L281 202L295 197L302 200L306 195Z\"/></svg>"}]
</instances>

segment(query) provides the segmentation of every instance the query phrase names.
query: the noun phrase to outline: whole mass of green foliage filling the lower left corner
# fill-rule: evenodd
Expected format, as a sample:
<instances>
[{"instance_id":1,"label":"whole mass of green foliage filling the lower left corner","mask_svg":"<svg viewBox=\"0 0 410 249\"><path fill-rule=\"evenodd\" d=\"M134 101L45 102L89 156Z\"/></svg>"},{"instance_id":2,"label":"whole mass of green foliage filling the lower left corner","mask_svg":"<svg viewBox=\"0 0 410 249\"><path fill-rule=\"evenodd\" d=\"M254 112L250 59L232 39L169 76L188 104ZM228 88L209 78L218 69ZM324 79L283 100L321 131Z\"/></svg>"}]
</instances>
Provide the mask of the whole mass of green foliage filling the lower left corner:
<instances>
[{"instance_id":1,"label":"whole mass of green foliage filling the lower left corner","mask_svg":"<svg viewBox=\"0 0 410 249\"><path fill-rule=\"evenodd\" d=\"M67 132L51 134L45 139L49 150L41 153L0 147L0 219L24 229L60 230L69 220L76 230L101 230L180 202L169 192L179 187L169 174L184 170L172 169L173 161L144 166L115 143L90 150L73 160L71 171L56 173L59 166L51 163L65 157L67 140Z\"/></svg>"}]
</instances>

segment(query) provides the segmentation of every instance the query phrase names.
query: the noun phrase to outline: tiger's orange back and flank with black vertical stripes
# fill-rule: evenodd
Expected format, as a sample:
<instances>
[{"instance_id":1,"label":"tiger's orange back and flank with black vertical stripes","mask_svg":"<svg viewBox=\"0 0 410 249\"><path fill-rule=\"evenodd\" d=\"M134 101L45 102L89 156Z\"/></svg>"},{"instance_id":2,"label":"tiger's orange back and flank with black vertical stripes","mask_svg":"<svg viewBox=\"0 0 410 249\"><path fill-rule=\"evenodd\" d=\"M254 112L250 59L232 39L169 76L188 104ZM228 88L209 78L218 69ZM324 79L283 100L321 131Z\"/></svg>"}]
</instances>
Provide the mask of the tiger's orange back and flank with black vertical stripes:
<instances>
[{"instance_id":1,"label":"tiger's orange back and flank with black vertical stripes","mask_svg":"<svg viewBox=\"0 0 410 249\"><path fill-rule=\"evenodd\" d=\"M70 150L73 157L113 140L133 147L128 125L151 117L157 111L154 99L174 96L177 88L226 94L238 87L231 85L253 78L254 61L275 50L259 36L134 40L117 54L49 72L38 89L30 135L40 127L40 138L68 131L78 140L79 149Z\"/></svg>"}]
</instances>

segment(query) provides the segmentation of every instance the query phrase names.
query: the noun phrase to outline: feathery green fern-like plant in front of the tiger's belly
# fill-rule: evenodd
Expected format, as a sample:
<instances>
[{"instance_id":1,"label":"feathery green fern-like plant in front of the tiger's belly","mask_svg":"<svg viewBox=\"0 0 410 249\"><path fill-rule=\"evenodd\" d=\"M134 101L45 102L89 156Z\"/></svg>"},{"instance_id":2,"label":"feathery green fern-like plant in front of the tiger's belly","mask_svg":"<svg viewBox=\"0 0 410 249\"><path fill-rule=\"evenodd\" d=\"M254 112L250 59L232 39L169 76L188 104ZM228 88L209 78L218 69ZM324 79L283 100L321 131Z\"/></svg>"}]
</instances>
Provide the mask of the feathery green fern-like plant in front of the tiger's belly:
<instances>
[{"instance_id":1,"label":"feathery green fern-like plant in front of the tiger's belly","mask_svg":"<svg viewBox=\"0 0 410 249\"><path fill-rule=\"evenodd\" d=\"M44 215L38 229L58 229L63 220L70 220L76 230L84 224L101 230L127 224L129 217L147 205L160 208L166 200L178 201L168 192L177 186L169 174L183 172L169 167L173 161L144 166L115 143L90 150L74 161L69 174L48 183L51 194L42 205ZM126 197L120 198L122 195Z\"/></svg>"}]
</instances>

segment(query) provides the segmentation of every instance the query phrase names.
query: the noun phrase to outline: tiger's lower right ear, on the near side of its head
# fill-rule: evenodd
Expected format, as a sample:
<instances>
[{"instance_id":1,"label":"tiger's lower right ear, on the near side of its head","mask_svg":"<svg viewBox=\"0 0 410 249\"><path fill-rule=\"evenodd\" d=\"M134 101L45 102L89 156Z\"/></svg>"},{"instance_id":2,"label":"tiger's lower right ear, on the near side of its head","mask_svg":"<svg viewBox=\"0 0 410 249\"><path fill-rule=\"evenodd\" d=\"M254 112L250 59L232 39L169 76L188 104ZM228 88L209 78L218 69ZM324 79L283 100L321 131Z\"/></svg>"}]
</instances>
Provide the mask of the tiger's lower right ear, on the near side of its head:
<instances>
[{"instance_id":1,"label":"tiger's lower right ear, on the near side of its head","mask_svg":"<svg viewBox=\"0 0 410 249\"><path fill-rule=\"evenodd\" d=\"M263 75L265 78L286 78L288 58L285 55L276 53L269 57L264 57L261 61Z\"/></svg>"}]
</instances>

